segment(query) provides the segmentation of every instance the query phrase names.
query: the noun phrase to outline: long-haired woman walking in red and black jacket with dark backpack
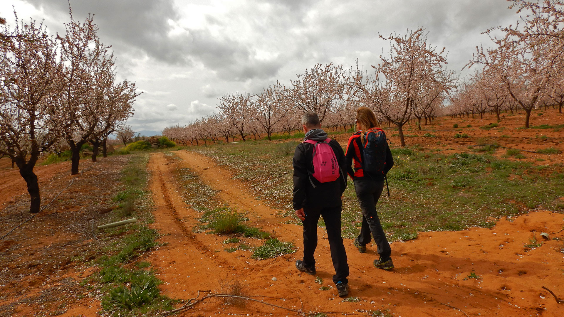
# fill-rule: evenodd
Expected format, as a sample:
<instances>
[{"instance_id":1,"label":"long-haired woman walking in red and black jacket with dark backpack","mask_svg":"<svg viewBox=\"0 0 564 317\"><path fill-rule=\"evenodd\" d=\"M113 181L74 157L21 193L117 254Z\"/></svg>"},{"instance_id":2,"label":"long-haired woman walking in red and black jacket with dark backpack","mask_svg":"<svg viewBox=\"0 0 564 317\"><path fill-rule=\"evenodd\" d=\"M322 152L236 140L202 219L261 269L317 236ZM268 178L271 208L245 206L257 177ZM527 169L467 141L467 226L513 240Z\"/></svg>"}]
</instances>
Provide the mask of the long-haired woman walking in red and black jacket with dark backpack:
<instances>
[{"instance_id":1,"label":"long-haired woman walking in red and black jacket with dark backpack","mask_svg":"<svg viewBox=\"0 0 564 317\"><path fill-rule=\"evenodd\" d=\"M360 253L366 252L366 244L371 241L371 234L378 247L379 259L374 266L384 270L394 268L391 260L391 248L380 224L376 203L384 190L384 177L394 165L390 147L384 130L371 109L361 107L356 110L356 130L349 139L345 154L347 172L354 180L356 197L362 209L362 228L354 245ZM351 168L354 160L354 170Z\"/></svg>"}]
</instances>

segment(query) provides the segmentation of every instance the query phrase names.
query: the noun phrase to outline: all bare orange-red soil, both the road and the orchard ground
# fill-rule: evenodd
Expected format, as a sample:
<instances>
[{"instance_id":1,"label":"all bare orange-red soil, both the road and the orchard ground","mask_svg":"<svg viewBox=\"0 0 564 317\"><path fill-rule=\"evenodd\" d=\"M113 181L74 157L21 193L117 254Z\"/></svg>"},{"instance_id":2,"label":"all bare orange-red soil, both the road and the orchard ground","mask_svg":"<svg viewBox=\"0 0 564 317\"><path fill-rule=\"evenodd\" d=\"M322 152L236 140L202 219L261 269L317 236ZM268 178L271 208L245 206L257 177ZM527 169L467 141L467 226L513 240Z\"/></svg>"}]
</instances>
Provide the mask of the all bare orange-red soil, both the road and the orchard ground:
<instances>
[{"instance_id":1,"label":"all bare orange-red soil, both the road and the orchard ground","mask_svg":"<svg viewBox=\"0 0 564 317\"><path fill-rule=\"evenodd\" d=\"M556 113L554 109L545 111L543 116L536 116L536 113L531 117L531 126L564 124L564 115ZM404 133L418 135L406 137L408 146L419 144L426 149L440 149L445 153L471 151L466 147L476 144L478 138L486 138L487 143L496 141L501 146L531 151L548 147L564 151L564 129L517 130L515 128L523 126L523 115L506 116L499 127L491 130L478 129L490 122L496 122L495 116L487 115L483 120L443 117L431 126L423 126L422 131L416 130L414 125L411 126L412 130L406 126ZM452 127L455 123L462 131ZM473 127L466 127L468 124ZM501 127L505 129L500 131ZM399 138L392 136L396 132L388 131L393 145L399 145ZM435 134L436 137L422 137L425 133ZM454 138L456 133L466 133L470 138ZM543 135L547 138L541 138ZM345 144L349 136L341 134L336 137ZM154 153L148 165L152 172L150 190L156 207L153 226L164 234L161 242L168 243L153 250L148 261L155 265L158 277L165 281L161 288L170 297L193 298L197 290L219 292L222 285L223 291L229 291L230 282L240 281L246 285L244 292L247 296L291 298L276 300L254 297L290 309L303 307L304 311L333 311L329 314L331 316L342 315L340 312L366 315L364 311L377 309L389 309L395 316L562 315L562 304L558 304L541 288L545 286L559 297L564 297L564 275L561 270L564 265L562 214L531 212L510 221L502 219L491 229L423 232L416 240L392 244L396 267L390 272L372 266L376 258L376 246L369 245L367 253L359 254L352 246L352 241L345 240L351 270L350 296L359 297L360 301L342 302L336 296L334 286L330 290L319 290L321 285L315 283L314 276L302 274L294 267L295 260L301 258L301 227L284 224L287 219L277 218L277 210L258 201L246 184L232 179L229 170L221 168L210 158L187 151L176 153L182 160L168 160L162 153ZM495 153L497 156L503 154L505 150ZM524 154L526 158L522 160L539 165L564 162L562 154ZM81 182L65 191L62 199L56 201L45 214L40 214L8 239L0 241L3 272L0 316L34 315L40 311L45 315L94 316L99 310L99 301L87 292L83 300L72 298L77 292L82 292L77 283L90 275L92 269L81 272L81 268L70 257L74 250L89 250L93 245L90 240L91 217L102 211L92 209L94 206L91 201L105 203L101 198L105 195L109 203L113 188L117 186L118 171L125 162L116 161L118 158L102 159L89 173L80 175ZM538 158L544 161L537 161ZM81 169L89 167L89 164L85 162ZM193 232L193 226L199 224L196 218L200 214L184 203L182 184L176 183L173 178L174 171L184 167L190 167L206 184L219 190L219 197L227 204L248 210L251 224L272 232L280 240L294 241L298 251L257 261L250 258L249 251L224 252L226 245L222 241L226 237ZM28 217L25 214L29 201L25 182L17 168L9 168L10 161L2 158L2 234ZM36 173L45 201L54 197L71 179L68 162L38 166ZM96 191L100 192L96 194ZM83 196L86 197L81 200ZM61 231L61 228L65 230ZM540 232L547 232L551 238L561 240L545 241L540 248L532 250L524 248L525 244L530 244L532 237L536 236L540 240ZM241 240L251 245L262 244L262 241L255 239ZM99 254L98 250L93 252L93 257ZM323 229L319 230L316 259L317 276L323 279L323 285L332 285L333 267ZM466 279L472 272L481 279ZM277 280L272 281L272 278ZM14 312L4 310L18 302L20 304ZM64 303L68 305L59 309ZM2 311L6 311L7 315L2 315ZM194 309L181 312L179 316L233 314L296 315L295 312L260 303L249 302L246 307L239 307L212 298L199 303Z\"/></svg>"}]
</instances>

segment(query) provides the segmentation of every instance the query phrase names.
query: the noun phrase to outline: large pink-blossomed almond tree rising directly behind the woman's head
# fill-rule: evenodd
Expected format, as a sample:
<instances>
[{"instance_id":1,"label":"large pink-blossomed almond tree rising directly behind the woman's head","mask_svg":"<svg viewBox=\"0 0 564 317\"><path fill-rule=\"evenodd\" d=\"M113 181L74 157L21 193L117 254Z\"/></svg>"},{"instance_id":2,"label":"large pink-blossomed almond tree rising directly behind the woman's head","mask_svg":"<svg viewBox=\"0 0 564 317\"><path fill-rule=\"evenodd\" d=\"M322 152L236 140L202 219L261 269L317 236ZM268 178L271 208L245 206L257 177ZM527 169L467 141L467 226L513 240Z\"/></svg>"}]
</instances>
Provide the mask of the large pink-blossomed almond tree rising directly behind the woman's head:
<instances>
[{"instance_id":1,"label":"large pink-blossomed almond tree rising directly behind the woman's head","mask_svg":"<svg viewBox=\"0 0 564 317\"><path fill-rule=\"evenodd\" d=\"M360 102L398 127L400 142L405 146L403 126L411 119L413 108L429 90L450 90L455 78L444 69L444 47L437 52L428 45L424 29L407 30L405 36L380 37L390 41L388 56L381 55L381 64L372 66L373 77L357 66L350 87Z\"/></svg>"}]
</instances>

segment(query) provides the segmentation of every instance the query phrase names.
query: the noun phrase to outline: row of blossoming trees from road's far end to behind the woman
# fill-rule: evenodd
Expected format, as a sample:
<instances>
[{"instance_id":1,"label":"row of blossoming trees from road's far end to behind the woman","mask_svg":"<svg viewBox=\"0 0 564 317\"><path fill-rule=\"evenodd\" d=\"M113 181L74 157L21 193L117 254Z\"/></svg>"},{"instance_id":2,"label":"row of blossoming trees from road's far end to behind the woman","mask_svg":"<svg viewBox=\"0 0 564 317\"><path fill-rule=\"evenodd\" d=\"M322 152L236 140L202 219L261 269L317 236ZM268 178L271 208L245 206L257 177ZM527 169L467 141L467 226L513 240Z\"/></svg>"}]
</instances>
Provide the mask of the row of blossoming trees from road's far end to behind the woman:
<instances>
[{"instance_id":1,"label":"row of blossoming trees from road's far end to behind the woman","mask_svg":"<svg viewBox=\"0 0 564 317\"><path fill-rule=\"evenodd\" d=\"M219 112L186 126L171 126L163 134L183 144L214 143L236 136L243 141L250 135L290 133L301 129L301 115L315 112L324 127L355 124L356 108L373 109L381 122L402 127L416 119L421 129L438 115L456 76L445 67L444 48L437 52L427 43L427 32L408 30L404 36L382 37L390 41L390 52L380 56L373 73L363 69L345 70L342 66L316 64L285 86L277 81L261 93L226 94L219 98Z\"/></svg>"}]
</instances>

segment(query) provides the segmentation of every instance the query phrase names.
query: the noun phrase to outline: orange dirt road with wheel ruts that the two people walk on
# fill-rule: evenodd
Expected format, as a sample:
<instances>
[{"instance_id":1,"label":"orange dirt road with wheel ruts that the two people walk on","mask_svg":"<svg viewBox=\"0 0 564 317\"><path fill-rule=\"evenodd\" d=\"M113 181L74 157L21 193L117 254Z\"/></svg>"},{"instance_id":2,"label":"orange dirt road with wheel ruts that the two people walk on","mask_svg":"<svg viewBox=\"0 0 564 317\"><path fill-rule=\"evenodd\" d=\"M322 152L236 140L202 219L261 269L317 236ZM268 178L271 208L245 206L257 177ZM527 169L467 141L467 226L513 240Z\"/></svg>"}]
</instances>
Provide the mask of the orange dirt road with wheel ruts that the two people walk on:
<instances>
[{"instance_id":1,"label":"orange dirt road with wheel ruts that the two people walk on","mask_svg":"<svg viewBox=\"0 0 564 317\"><path fill-rule=\"evenodd\" d=\"M244 183L232 179L230 171L210 158L188 151L176 153L180 160L155 153L149 162L153 175L151 190L157 207L155 227L165 234L162 242L168 243L153 252L150 261L158 267L159 277L166 282L162 289L170 297L192 298L197 290L203 289L220 291L222 284L235 280L246 285L246 295L293 298L262 299L290 309L301 309L303 303L306 311L361 314L389 309L396 316L561 315L561 307L541 287L544 285L564 296L564 275L559 269L564 264L562 241L546 241L528 252L523 248L523 244L530 243L531 231L564 238L562 232L552 234L564 224L561 214L530 213L514 221L502 220L491 229L421 233L416 240L392 245L396 268L391 272L372 267L376 246L369 245L367 253L359 254L352 241L345 240L351 271L350 296L358 302L343 302L336 297L334 287L320 290L314 276L302 274L294 267L294 261L301 258L301 227L283 224L285 219L276 218L276 210L257 201ZM266 230L275 230L280 240L294 241L298 251L257 261L250 258L249 251L224 252L225 237L192 232L199 214L184 204L180 185L173 179L174 170L186 167L219 190L227 204L248 210L252 221L256 220ZM333 267L322 231L316 251L317 276L323 279L323 285L332 286ZM255 240L254 244L258 243ZM211 315L211 312L213 315L288 314L258 303L241 308L210 301L184 315Z\"/></svg>"}]
</instances>

